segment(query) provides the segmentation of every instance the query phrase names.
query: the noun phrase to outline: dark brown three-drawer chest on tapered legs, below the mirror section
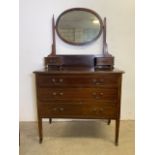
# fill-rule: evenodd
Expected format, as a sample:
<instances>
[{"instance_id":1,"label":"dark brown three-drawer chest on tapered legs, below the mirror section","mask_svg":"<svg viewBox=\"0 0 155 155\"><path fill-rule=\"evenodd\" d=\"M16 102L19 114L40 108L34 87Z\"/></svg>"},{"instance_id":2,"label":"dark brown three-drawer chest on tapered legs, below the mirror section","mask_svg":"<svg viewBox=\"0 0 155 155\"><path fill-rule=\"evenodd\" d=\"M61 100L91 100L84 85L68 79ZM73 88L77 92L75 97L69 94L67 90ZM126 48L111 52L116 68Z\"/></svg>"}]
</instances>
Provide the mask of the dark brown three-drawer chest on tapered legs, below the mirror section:
<instances>
[{"instance_id":1,"label":"dark brown three-drawer chest on tapered legs, below the mirror section","mask_svg":"<svg viewBox=\"0 0 155 155\"><path fill-rule=\"evenodd\" d=\"M116 120L118 144L122 71L35 71L39 137L42 118Z\"/></svg>"}]
</instances>

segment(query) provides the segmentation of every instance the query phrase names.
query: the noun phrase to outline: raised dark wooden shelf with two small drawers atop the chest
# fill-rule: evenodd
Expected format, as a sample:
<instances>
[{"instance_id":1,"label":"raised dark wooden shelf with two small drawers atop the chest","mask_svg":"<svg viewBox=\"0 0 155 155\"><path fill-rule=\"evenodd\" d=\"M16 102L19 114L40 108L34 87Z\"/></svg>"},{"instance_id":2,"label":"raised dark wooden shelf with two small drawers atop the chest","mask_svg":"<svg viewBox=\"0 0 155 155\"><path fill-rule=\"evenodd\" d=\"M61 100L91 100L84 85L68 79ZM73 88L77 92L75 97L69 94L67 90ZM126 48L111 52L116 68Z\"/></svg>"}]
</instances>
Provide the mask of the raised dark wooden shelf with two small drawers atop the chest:
<instances>
[{"instance_id":1,"label":"raised dark wooden shelf with two small drawers atop the chest","mask_svg":"<svg viewBox=\"0 0 155 155\"><path fill-rule=\"evenodd\" d=\"M114 57L97 55L55 55L44 58L46 69L62 70L66 67L87 67L97 70L114 69Z\"/></svg>"}]
</instances>

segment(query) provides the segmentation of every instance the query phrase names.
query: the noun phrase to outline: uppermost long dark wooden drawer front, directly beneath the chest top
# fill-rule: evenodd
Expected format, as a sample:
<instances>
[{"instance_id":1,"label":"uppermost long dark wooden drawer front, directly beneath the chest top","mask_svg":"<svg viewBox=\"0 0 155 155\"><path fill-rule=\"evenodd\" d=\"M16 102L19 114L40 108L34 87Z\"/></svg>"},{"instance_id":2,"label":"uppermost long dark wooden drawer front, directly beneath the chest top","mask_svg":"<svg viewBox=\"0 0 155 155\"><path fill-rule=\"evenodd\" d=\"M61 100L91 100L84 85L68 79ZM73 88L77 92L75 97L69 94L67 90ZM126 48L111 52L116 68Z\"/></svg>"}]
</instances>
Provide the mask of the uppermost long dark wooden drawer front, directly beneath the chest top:
<instances>
[{"instance_id":1,"label":"uppermost long dark wooden drawer front, directly beneath the chest top","mask_svg":"<svg viewBox=\"0 0 155 155\"><path fill-rule=\"evenodd\" d=\"M38 87L104 87L117 86L119 75L37 75Z\"/></svg>"}]
</instances>

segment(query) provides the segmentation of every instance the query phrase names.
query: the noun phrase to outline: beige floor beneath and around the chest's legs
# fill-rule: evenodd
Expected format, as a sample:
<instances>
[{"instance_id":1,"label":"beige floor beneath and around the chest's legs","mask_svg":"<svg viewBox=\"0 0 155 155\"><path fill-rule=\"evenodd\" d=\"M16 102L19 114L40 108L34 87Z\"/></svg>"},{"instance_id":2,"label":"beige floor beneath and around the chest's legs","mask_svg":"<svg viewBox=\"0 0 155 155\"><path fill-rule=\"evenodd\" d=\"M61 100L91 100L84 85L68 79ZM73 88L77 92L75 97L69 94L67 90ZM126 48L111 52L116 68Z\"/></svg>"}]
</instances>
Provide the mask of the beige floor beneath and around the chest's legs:
<instances>
[{"instance_id":1,"label":"beige floor beneath and around the chest's legs","mask_svg":"<svg viewBox=\"0 0 155 155\"><path fill-rule=\"evenodd\" d=\"M43 123L39 144L36 122L20 123L20 155L134 155L134 121L121 121L119 146L115 123L104 120Z\"/></svg>"}]
</instances>

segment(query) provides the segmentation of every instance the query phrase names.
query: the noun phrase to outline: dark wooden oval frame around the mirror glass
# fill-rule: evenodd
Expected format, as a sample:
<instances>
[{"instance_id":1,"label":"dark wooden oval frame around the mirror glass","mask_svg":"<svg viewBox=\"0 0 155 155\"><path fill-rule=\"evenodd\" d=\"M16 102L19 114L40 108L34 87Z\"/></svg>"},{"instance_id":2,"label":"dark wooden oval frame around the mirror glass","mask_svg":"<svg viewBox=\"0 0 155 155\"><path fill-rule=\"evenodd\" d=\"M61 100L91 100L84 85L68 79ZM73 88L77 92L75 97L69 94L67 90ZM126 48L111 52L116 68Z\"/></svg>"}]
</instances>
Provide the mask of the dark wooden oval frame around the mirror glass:
<instances>
[{"instance_id":1,"label":"dark wooden oval frame around the mirror glass","mask_svg":"<svg viewBox=\"0 0 155 155\"><path fill-rule=\"evenodd\" d=\"M68 12L72 12L72 11L84 11L84 12L88 12L88 13L93 14L94 16L96 16L97 19L99 20L99 23L100 23L100 30L99 30L98 35L97 35L96 37L94 37L92 40L86 41L86 42L82 42L82 43L75 43L75 42L71 42L71 41L68 41L68 40L64 39L64 38L60 35L60 33L59 33L58 24L59 24L59 21L60 21L61 17L62 17L64 14L66 14L66 13L68 13ZM96 41L96 40L100 37L100 35L101 35L101 33L102 33L102 29L103 29L102 18L101 18L95 11L90 10L90 9L86 9L86 8L71 8L71 9L65 10L64 12L62 12L62 13L59 15L59 17L58 17L58 19L57 19L57 21L56 21L56 32L57 32L58 36L61 38L61 40L63 40L64 42L66 42L66 43L68 43L68 44L71 44L71 45L87 45L87 44L90 44L90 43Z\"/></svg>"}]
</instances>

